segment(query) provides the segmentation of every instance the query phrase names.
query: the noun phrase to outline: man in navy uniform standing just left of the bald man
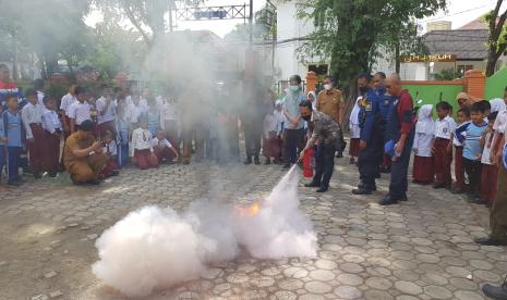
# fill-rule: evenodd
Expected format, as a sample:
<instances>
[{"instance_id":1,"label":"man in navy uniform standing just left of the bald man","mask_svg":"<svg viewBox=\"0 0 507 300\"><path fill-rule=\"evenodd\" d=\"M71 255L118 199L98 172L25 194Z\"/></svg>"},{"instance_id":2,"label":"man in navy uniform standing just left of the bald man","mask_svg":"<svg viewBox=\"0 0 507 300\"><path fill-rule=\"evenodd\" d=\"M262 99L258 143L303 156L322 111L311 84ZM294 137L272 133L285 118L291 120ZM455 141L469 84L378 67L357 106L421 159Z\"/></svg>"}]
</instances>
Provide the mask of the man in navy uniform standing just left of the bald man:
<instances>
[{"instance_id":1,"label":"man in navy uniform standing just left of the bald man","mask_svg":"<svg viewBox=\"0 0 507 300\"><path fill-rule=\"evenodd\" d=\"M359 153L359 174L361 183L352 190L354 195L371 195L376 190L375 177L379 173L379 154L384 145L381 124L379 98L372 87L372 76L358 76L358 87L363 99L359 112L361 141Z\"/></svg>"}]
</instances>

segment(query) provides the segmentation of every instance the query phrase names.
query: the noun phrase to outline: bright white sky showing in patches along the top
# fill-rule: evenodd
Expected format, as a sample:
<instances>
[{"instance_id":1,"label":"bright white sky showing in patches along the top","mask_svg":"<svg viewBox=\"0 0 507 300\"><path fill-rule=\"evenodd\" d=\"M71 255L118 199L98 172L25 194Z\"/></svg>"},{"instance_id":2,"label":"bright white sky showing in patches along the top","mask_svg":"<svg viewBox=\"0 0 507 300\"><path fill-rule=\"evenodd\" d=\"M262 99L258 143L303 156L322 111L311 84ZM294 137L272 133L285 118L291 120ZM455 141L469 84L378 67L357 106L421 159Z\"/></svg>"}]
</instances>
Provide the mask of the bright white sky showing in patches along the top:
<instances>
[{"instance_id":1,"label":"bright white sky showing in patches along the top","mask_svg":"<svg viewBox=\"0 0 507 300\"><path fill-rule=\"evenodd\" d=\"M249 0L206 0L206 7L243 4ZM254 0L254 11L258 11L266 3L265 0ZM457 29L467 23L484 15L492 10L496 4L496 0L448 0L447 11L437 12L435 15L420 20L419 23L425 30L425 24L431 21L450 21L452 22L452 29ZM507 5L504 5L507 7ZM505 9L505 8L503 8ZM100 21L101 15L98 12L92 12L85 20L86 24L93 26ZM184 29L208 29L214 32L220 37L231 32L237 24L243 24L243 20L225 20L225 21L194 21L182 22L178 21L177 30Z\"/></svg>"}]
</instances>

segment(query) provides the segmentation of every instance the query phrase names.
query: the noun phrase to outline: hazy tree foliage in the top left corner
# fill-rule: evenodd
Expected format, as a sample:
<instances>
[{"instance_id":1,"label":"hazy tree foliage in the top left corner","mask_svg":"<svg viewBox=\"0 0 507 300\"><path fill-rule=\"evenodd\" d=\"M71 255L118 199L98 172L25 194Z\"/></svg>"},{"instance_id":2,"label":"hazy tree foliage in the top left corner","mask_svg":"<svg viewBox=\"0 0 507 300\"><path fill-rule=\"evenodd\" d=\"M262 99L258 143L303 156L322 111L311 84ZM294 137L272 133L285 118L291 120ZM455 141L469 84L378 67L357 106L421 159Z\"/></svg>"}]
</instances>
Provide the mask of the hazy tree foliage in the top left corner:
<instances>
[{"instance_id":1,"label":"hazy tree foliage in the top left corner","mask_svg":"<svg viewBox=\"0 0 507 300\"><path fill-rule=\"evenodd\" d=\"M44 74L60 59L76 66L90 51L83 21L89 9L87 0L0 0L0 27L37 53Z\"/></svg>"}]
</instances>

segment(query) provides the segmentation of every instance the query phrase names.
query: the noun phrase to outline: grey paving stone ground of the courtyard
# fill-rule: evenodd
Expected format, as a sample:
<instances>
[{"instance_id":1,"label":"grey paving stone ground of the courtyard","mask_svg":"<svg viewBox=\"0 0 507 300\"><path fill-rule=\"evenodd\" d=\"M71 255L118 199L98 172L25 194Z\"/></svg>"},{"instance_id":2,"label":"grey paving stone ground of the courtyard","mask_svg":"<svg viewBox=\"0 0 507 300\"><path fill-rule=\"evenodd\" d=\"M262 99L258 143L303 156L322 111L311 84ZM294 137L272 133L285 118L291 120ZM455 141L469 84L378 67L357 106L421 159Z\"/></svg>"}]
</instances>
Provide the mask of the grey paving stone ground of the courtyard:
<instances>
[{"instance_id":1,"label":"grey paving stone ground of the courtyard","mask_svg":"<svg viewBox=\"0 0 507 300\"><path fill-rule=\"evenodd\" d=\"M253 260L213 266L202 278L146 299L484 299L483 283L507 273L507 251L480 247L487 210L448 191L411 186L410 201L383 208L386 190L352 196L357 170L340 160L329 192L300 188L318 233L314 260ZM99 187L67 177L0 186L0 299L123 299L90 272L94 240L146 204L182 210L196 198L266 195L279 166L166 165L124 170Z\"/></svg>"}]
</instances>

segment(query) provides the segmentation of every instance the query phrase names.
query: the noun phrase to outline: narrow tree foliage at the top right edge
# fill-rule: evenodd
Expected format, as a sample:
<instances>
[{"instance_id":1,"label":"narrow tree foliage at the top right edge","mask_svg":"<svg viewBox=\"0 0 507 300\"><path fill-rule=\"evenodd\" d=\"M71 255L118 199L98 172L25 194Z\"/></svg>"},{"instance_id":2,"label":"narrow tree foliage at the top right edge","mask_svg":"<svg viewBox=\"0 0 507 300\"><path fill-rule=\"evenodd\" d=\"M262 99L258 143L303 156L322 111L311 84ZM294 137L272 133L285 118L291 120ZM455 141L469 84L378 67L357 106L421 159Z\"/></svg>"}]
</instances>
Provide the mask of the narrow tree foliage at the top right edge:
<instances>
[{"instance_id":1,"label":"narrow tree foliage at the top right edge","mask_svg":"<svg viewBox=\"0 0 507 300\"><path fill-rule=\"evenodd\" d=\"M507 54L507 9L500 14L504 0L497 0L495 9L485 15L490 38L487 41L486 76L495 73L496 62L502 54Z\"/></svg>"}]
</instances>

